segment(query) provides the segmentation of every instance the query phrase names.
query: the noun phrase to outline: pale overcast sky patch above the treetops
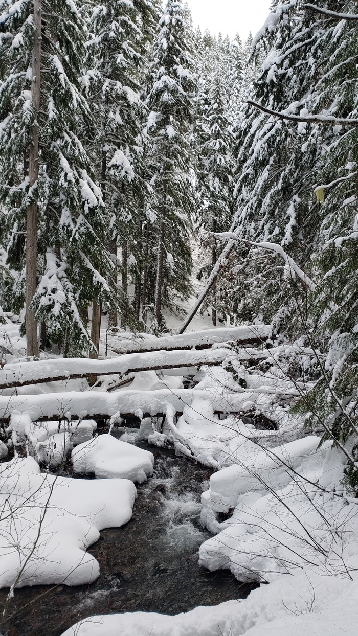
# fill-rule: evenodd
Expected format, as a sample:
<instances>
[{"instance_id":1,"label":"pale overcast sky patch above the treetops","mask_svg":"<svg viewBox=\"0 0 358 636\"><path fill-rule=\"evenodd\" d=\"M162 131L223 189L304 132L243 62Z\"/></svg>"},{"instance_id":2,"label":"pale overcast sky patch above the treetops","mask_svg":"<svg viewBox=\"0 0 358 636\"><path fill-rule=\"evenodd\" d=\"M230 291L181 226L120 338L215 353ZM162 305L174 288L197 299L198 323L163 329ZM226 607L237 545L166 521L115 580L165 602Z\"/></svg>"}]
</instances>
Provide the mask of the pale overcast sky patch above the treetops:
<instances>
[{"instance_id":1,"label":"pale overcast sky patch above the treetops","mask_svg":"<svg viewBox=\"0 0 358 636\"><path fill-rule=\"evenodd\" d=\"M188 0L194 27L206 28L210 33L228 34L233 38L238 32L245 39L251 31L254 36L270 13L270 0Z\"/></svg>"}]
</instances>

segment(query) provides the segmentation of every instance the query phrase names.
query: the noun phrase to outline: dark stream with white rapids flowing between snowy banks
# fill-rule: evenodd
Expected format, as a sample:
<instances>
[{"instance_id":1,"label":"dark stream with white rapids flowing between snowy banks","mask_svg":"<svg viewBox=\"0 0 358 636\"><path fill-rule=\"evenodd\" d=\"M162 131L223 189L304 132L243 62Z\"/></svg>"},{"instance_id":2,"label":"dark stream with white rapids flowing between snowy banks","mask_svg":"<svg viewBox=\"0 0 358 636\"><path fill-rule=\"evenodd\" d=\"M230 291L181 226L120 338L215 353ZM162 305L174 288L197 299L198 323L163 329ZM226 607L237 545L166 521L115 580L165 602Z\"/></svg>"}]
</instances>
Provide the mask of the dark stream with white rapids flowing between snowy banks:
<instances>
[{"instance_id":1,"label":"dark stream with white rapids flowing between snowy banks","mask_svg":"<svg viewBox=\"0 0 358 636\"><path fill-rule=\"evenodd\" d=\"M132 520L102 530L90 553L100 576L90 585L36 586L15 590L6 636L60 636L93 614L177 614L196 605L245 598L254 588L230 572L198 566L197 551L210 534L200 525L200 495L212 471L176 457L170 449L141 443L155 455L155 473L139 485ZM0 590L1 611L7 590Z\"/></svg>"}]
</instances>

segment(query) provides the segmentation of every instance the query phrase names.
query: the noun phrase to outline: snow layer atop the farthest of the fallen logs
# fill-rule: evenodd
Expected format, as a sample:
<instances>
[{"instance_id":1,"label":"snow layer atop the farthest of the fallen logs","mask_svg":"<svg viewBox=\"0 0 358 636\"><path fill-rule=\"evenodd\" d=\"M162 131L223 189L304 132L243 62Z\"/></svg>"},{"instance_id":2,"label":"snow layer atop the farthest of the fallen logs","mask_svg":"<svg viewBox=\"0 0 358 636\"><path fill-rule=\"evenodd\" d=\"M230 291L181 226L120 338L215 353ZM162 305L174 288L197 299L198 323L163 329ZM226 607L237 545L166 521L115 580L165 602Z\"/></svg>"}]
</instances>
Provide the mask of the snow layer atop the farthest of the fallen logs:
<instances>
[{"instance_id":1,"label":"snow layer atop the farthest of the fallen logs","mask_svg":"<svg viewBox=\"0 0 358 636\"><path fill-rule=\"evenodd\" d=\"M246 345L261 342L269 338L271 328L265 324L241 325L239 327L221 327L219 329L200 329L188 331L176 336L155 338L143 335L142 339L129 333L120 333L116 338L116 344L111 346L116 353L128 354L134 352L149 351L173 351L182 349L210 349L213 344L220 342L235 342Z\"/></svg>"}]
</instances>

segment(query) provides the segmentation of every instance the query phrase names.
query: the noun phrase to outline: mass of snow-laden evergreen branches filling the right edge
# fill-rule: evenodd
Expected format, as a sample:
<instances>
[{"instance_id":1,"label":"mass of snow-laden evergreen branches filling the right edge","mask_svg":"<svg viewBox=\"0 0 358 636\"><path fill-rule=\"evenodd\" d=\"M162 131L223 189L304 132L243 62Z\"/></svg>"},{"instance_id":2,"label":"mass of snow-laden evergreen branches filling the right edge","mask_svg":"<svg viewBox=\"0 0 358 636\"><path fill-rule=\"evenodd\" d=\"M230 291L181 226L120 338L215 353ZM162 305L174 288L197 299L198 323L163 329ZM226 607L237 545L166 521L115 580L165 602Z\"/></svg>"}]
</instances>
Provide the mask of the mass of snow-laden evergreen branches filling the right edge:
<instances>
[{"instance_id":1,"label":"mass of snow-laden evergreen branches filling the right edge","mask_svg":"<svg viewBox=\"0 0 358 636\"><path fill-rule=\"evenodd\" d=\"M326 8L335 11L337 4ZM356 13L355 4L345 10ZM250 116L249 107L242 113L237 195L244 243L231 263L238 275L232 298L237 315L272 321L324 354L324 363L317 358L315 389L295 411L341 448L353 435L352 450L352 444L345 449L347 484L358 490L357 127L348 125L358 111L357 30L354 22L327 19L300 1L275 5L272 25L261 33L268 55L254 99L279 116ZM291 114L298 123L285 119ZM341 123L310 123L308 114ZM258 249L262 241L268 249ZM277 249L270 252L270 244L311 280L272 258Z\"/></svg>"}]
</instances>

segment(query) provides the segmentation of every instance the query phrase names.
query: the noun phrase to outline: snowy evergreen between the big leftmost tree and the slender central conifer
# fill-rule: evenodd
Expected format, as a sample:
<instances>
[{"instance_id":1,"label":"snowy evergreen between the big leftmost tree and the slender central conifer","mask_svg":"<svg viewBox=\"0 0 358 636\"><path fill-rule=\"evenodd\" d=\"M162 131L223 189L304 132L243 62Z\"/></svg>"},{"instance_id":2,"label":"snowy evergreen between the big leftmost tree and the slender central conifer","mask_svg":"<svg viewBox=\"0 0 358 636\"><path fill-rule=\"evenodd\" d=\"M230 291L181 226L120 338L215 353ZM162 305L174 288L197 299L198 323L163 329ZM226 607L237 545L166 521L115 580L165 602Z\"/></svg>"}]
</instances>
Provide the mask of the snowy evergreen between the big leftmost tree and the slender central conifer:
<instances>
[{"instance_id":1,"label":"snowy evergreen between the big leftmost tree and the slender central conifer","mask_svg":"<svg viewBox=\"0 0 358 636\"><path fill-rule=\"evenodd\" d=\"M118 294L117 247L121 245L119 300L124 324L133 324L134 320L127 296L128 254L135 252L138 244L135 238L138 232L141 235L147 193L142 136L145 107L141 85L145 69L143 55L150 37L153 13L153 6L145 0L135 5L107 0L95 7L90 20L93 39L88 43L89 67L82 80L96 113L93 162L97 163L111 219L107 244L113 254L114 272L110 283L115 296ZM140 254L135 256L137 263ZM117 312L113 310L109 312L109 326L116 325Z\"/></svg>"}]
</instances>

